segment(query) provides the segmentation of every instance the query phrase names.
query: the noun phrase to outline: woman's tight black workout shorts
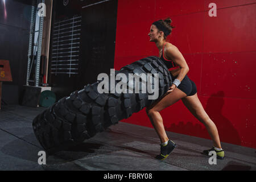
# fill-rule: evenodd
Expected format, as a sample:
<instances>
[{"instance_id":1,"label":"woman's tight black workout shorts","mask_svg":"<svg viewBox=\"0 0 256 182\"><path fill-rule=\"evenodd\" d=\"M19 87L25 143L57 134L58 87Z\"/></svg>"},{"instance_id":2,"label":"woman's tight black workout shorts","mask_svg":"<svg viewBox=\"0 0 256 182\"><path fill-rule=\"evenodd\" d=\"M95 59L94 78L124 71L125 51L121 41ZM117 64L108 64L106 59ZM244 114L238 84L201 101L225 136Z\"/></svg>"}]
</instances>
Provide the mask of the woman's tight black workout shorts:
<instances>
[{"instance_id":1,"label":"woman's tight black workout shorts","mask_svg":"<svg viewBox=\"0 0 256 182\"><path fill-rule=\"evenodd\" d=\"M174 81L175 78L176 77L172 76L172 81ZM177 88L185 94L187 94L187 96L193 96L197 92L196 84L192 80L190 80L187 75L183 78L183 80L180 82L180 85Z\"/></svg>"}]
</instances>

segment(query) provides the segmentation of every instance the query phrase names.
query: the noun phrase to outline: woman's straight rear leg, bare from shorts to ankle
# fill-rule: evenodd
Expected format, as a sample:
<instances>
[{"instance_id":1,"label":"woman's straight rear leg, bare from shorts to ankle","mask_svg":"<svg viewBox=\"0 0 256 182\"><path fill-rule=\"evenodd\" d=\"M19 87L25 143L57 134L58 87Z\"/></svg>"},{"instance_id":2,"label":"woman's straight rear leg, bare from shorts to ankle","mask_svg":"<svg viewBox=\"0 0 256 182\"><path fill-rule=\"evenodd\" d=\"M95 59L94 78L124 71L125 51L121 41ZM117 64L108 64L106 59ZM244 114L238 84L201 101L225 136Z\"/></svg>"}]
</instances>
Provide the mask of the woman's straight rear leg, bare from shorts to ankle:
<instances>
[{"instance_id":1,"label":"woman's straight rear leg, bare from shorts to ankle","mask_svg":"<svg viewBox=\"0 0 256 182\"><path fill-rule=\"evenodd\" d=\"M220 138L218 137L218 130L212 119L209 118L205 112L197 93L193 96L187 96L182 99L183 104L188 110L206 127L210 137L213 140L213 146L221 148Z\"/></svg>"}]
</instances>

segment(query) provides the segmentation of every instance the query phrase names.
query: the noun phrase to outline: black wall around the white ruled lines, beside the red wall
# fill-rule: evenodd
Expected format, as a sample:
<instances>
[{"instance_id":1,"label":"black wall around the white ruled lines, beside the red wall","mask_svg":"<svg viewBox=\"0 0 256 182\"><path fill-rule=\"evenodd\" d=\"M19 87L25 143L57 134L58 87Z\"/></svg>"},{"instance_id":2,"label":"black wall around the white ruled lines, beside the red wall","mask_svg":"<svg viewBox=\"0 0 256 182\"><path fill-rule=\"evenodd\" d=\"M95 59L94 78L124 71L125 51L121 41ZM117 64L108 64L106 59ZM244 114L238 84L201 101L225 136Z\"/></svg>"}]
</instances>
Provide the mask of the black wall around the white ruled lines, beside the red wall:
<instances>
[{"instance_id":1,"label":"black wall around the white ruled lines, beside the red wall","mask_svg":"<svg viewBox=\"0 0 256 182\"><path fill-rule=\"evenodd\" d=\"M53 5L55 10L52 24L74 15L79 15L82 19L78 75L69 77L67 74L48 74L49 84L53 87L57 100L82 89L86 84L92 84L97 81L99 73L109 74L110 68L114 68L117 0L98 2L102 1L69 1L67 6L63 5L63 1L58 1ZM82 8L86 5L92 6ZM51 37L51 42L52 39ZM49 62L50 70L51 59Z\"/></svg>"}]
</instances>

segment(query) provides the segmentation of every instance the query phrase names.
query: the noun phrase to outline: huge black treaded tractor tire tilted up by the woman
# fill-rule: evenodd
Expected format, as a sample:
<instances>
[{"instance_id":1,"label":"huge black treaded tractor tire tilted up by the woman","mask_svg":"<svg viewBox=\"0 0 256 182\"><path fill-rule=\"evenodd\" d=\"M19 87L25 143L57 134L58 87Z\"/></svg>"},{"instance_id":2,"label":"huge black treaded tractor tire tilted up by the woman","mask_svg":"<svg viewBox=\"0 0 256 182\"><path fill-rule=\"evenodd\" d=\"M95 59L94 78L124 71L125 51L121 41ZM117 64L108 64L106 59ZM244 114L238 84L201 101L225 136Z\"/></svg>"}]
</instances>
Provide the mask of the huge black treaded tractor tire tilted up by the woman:
<instances>
[{"instance_id":1,"label":"huge black treaded tractor tire tilted up by the woman","mask_svg":"<svg viewBox=\"0 0 256 182\"><path fill-rule=\"evenodd\" d=\"M120 71L115 71L115 75L117 73L159 73L159 97L172 85L166 65L155 56L126 65ZM34 119L34 133L48 154L92 138L155 101L148 100L148 93L100 94L97 91L99 82L88 84L84 89L72 92L69 97L61 98Z\"/></svg>"}]
</instances>

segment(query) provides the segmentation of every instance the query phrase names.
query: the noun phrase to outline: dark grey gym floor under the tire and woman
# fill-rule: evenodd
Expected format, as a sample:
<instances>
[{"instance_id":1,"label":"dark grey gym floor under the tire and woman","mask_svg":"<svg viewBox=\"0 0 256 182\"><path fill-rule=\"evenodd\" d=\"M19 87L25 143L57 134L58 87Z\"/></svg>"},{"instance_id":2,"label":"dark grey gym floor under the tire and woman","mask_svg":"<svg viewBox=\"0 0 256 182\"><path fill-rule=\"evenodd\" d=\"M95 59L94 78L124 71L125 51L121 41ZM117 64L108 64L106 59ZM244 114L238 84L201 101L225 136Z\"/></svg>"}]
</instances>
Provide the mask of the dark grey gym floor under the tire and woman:
<instances>
[{"instance_id":1,"label":"dark grey gym floor under the tire and woman","mask_svg":"<svg viewBox=\"0 0 256 182\"><path fill-rule=\"evenodd\" d=\"M200 154L209 149L208 139L167 132L177 148L164 161L159 154L159 139L154 129L119 122L103 133L85 140L68 151L47 156L38 164L43 148L32 131L32 119L45 108L4 105L0 110L0 170L256 170L256 149L222 143L225 160L216 165Z\"/></svg>"}]
</instances>

